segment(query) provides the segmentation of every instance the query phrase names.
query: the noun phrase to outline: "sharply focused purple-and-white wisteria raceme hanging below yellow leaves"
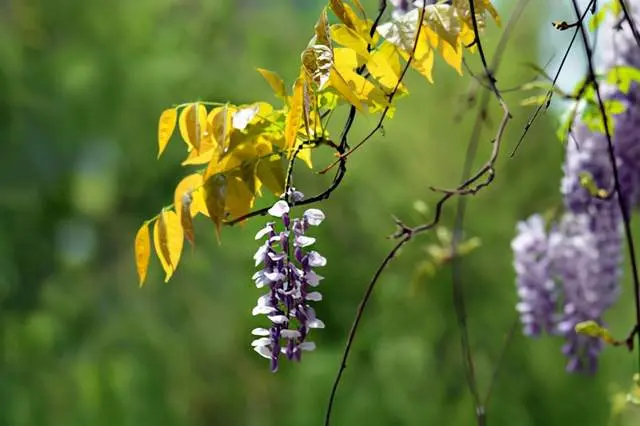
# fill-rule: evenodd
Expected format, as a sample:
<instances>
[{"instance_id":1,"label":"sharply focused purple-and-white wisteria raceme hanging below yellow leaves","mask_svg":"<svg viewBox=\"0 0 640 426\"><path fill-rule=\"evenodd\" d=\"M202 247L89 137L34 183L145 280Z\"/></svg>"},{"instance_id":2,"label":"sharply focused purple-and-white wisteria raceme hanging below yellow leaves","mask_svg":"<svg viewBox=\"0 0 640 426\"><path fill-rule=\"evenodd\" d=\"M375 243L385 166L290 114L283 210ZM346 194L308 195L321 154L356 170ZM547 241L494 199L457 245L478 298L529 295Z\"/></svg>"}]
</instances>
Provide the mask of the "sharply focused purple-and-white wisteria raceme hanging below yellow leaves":
<instances>
[{"instance_id":1,"label":"sharply focused purple-and-white wisteria raceme hanging below yellow leaves","mask_svg":"<svg viewBox=\"0 0 640 426\"><path fill-rule=\"evenodd\" d=\"M294 203L301 198L297 191L290 194ZM324 328L324 323L316 317L309 302L322 300L322 294L314 288L323 277L314 268L325 266L327 260L317 251L309 250L316 239L305 235L311 226L322 223L325 218L322 211L307 209L301 218L292 219L289 203L279 200L269 214L279 218L281 225L269 222L256 234L256 240L265 241L253 257L256 266L262 264L253 280L257 288L265 288L267 293L258 298L252 313L266 315L272 325L254 329L251 333L258 338L251 346L271 360L271 371L275 372L280 354L300 361L302 351L315 349L307 336L311 329Z\"/></svg>"}]
</instances>

